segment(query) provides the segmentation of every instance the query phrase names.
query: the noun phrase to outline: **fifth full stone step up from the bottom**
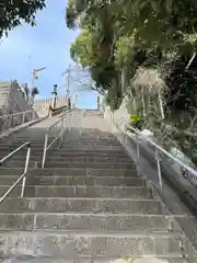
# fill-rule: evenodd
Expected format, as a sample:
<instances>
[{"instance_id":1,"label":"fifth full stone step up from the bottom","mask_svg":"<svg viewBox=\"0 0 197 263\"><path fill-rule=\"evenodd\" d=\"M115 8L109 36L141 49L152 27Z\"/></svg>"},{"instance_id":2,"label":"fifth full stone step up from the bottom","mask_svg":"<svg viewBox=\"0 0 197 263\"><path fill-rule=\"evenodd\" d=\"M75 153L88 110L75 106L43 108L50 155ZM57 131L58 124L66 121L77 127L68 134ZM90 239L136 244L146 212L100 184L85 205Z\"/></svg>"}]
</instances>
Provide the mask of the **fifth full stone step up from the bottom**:
<instances>
[{"instance_id":1,"label":"fifth full stone step up from the bottom","mask_svg":"<svg viewBox=\"0 0 197 263\"><path fill-rule=\"evenodd\" d=\"M5 182L4 178L0 176L1 182ZM9 179L8 179L9 182ZM118 176L108 176L108 178L83 178L83 176L36 176L35 183L37 185L101 185L101 186L144 186L144 180L140 178L118 178Z\"/></svg>"}]
</instances>

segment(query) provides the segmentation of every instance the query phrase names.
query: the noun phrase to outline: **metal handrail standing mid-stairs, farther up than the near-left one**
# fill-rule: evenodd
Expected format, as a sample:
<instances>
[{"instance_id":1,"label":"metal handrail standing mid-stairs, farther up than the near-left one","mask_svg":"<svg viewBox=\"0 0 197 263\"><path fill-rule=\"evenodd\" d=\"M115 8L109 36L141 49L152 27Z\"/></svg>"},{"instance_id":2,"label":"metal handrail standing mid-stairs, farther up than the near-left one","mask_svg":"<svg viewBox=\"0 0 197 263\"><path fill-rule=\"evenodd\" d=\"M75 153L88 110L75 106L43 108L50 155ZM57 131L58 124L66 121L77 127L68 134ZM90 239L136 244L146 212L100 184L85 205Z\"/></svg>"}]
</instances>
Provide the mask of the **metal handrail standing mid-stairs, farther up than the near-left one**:
<instances>
[{"instance_id":1,"label":"metal handrail standing mid-stairs, farther up than the near-left one","mask_svg":"<svg viewBox=\"0 0 197 263\"><path fill-rule=\"evenodd\" d=\"M70 115L72 113L72 111L68 111L65 113L65 115L62 117L60 117L60 119L58 119L55 124L50 125L49 127L46 128L45 130L45 144L44 144L44 150L43 150L43 160L42 160L42 168L45 167L45 161L46 161L46 155L47 155L47 150L60 138L62 141L63 138L63 134L65 134L65 129L66 129L66 117L68 116L68 114ZM58 127L59 126L59 127ZM49 142L48 141L48 137L49 137L49 132L56 128L58 129L58 134L57 136L55 136L55 138ZM68 127L69 128L69 127ZM57 130L56 130L57 132ZM48 144L49 142L49 144Z\"/></svg>"}]
</instances>

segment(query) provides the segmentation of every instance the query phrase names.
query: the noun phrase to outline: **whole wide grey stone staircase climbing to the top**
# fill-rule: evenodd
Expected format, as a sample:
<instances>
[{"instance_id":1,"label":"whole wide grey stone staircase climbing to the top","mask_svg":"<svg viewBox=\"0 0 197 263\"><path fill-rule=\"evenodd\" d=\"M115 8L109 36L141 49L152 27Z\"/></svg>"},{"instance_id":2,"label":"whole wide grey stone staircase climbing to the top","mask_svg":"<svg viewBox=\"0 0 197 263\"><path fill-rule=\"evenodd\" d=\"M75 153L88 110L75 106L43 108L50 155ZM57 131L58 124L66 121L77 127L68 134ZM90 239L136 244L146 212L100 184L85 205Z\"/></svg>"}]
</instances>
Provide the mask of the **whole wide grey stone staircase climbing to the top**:
<instances>
[{"instance_id":1,"label":"whole wide grey stone staircase climbing to the top","mask_svg":"<svg viewBox=\"0 0 197 263\"><path fill-rule=\"evenodd\" d=\"M28 139L33 148L25 197L19 197L19 186L0 205L1 262L109 263L155 256L197 263L196 251L167 208L138 175L123 146L104 130L105 121L90 115L80 125L76 118L83 128L65 134L45 169L38 168L42 127L0 145L0 156ZM88 127L91 117L94 128ZM21 151L0 169L1 195L22 174L24 157Z\"/></svg>"}]
</instances>

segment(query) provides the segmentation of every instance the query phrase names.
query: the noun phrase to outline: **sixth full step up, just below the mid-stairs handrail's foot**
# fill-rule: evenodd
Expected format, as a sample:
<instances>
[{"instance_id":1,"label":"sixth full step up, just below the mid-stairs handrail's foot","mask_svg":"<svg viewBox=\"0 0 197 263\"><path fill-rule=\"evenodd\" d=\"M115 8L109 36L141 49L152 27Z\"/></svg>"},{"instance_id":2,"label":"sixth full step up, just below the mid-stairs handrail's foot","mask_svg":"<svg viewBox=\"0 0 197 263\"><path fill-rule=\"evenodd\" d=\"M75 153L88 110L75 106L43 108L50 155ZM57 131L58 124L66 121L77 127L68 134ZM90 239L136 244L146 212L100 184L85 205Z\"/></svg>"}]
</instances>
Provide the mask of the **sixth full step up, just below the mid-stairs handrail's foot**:
<instances>
[{"instance_id":1,"label":"sixth full step up, just below the mid-stairs handrail's foot","mask_svg":"<svg viewBox=\"0 0 197 263\"><path fill-rule=\"evenodd\" d=\"M0 175L21 175L24 169L22 168L0 168ZM42 176L137 176L136 169L103 169L103 168L45 168L30 169L31 174Z\"/></svg>"}]
</instances>

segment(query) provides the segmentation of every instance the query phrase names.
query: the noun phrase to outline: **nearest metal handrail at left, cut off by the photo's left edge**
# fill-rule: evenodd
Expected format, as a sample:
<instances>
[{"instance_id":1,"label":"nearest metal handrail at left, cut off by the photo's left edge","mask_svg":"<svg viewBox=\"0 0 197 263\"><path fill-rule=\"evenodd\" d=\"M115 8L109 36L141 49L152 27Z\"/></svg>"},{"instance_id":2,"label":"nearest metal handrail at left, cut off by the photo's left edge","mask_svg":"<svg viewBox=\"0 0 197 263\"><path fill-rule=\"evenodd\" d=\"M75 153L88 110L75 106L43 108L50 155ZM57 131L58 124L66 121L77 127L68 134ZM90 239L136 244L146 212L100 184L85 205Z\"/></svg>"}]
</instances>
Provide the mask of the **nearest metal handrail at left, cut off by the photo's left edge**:
<instances>
[{"instance_id":1,"label":"nearest metal handrail at left, cut off by the photo's left edge","mask_svg":"<svg viewBox=\"0 0 197 263\"><path fill-rule=\"evenodd\" d=\"M2 164L7 161L9 161L15 153L18 153L20 150L24 149L27 147L26 150L26 159L25 159L25 165L24 165L24 172L23 174L16 180L15 183L12 184L12 186L0 197L0 204L5 199L5 197L22 182L22 188L21 188L21 197L24 196L24 190L25 190L25 183L26 183L26 173L28 171L28 164L30 164L30 157L31 157L31 145L28 141L26 141L25 144L21 145L20 147L18 147L15 150L13 150L12 152L10 152L8 156L5 156L4 158L2 158L0 160L0 165L2 167Z\"/></svg>"}]
</instances>

